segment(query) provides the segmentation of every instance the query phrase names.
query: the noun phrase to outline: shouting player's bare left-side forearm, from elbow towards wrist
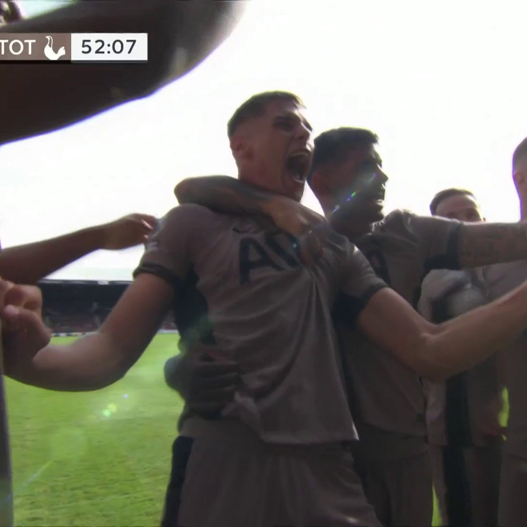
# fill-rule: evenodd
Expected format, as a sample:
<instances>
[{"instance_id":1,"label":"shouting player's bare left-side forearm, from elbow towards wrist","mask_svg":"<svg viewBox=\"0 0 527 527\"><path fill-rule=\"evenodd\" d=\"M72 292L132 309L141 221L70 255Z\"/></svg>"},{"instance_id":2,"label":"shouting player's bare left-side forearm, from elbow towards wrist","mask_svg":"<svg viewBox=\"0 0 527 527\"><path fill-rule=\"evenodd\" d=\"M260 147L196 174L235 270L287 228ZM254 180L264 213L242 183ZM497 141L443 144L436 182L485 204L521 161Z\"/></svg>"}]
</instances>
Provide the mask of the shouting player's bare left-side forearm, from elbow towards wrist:
<instances>
[{"instance_id":1,"label":"shouting player's bare left-side forearm, from elbow towards wrist","mask_svg":"<svg viewBox=\"0 0 527 527\"><path fill-rule=\"evenodd\" d=\"M110 386L131 364L115 353L102 333L85 335L71 344L49 345L29 363L16 357L5 364L5 373L21 383L60 392L89 392Z\"/></svg>"}]
</instances>

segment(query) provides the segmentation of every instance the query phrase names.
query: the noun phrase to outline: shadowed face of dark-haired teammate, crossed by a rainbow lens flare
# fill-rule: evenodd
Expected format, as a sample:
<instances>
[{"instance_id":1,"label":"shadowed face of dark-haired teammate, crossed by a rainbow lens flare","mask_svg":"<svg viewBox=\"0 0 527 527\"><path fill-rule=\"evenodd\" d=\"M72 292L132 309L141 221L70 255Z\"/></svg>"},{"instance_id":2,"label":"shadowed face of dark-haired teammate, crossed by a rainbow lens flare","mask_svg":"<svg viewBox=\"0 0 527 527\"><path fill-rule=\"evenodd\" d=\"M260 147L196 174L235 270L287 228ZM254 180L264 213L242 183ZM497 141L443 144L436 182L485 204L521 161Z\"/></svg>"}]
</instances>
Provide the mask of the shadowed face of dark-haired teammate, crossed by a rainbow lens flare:
<instances>
[{"instance_id":1,"label":"shadowed face of dark-haired teammate, crossed by a rainbow lens flare","mask_svg":"<svg viewBox=\"0 0 527 527\"><path fill-rule=\"evenodd\" d=\"M313 190L327 214L374 223L383 218L387 175L373 145L349 151L346 160L314 174Z\"/></svg>"}]
</instances>

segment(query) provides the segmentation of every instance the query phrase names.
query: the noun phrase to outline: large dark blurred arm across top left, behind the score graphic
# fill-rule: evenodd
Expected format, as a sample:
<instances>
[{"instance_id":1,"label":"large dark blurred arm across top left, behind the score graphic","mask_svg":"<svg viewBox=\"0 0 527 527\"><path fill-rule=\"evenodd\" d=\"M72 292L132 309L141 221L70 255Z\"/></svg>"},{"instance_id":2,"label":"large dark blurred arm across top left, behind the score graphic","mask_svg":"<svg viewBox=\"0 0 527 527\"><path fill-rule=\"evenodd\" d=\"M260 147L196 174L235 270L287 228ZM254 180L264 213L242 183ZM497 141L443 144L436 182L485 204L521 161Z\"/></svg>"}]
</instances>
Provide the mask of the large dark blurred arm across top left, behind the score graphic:
<instances>
[{"instance_id":1,"label":"large dark blurred arm across top left, behind the score graphic","mask_svg":"<svg viewBox=\"0 0 527 527\"><path fill-rule=\"evenodd\" d=\"M2 33L148 33L144 64L0 64L0 144L57 130L152 94L230 34L245 2L83 0Z\"/></svg>"}]
</instances>

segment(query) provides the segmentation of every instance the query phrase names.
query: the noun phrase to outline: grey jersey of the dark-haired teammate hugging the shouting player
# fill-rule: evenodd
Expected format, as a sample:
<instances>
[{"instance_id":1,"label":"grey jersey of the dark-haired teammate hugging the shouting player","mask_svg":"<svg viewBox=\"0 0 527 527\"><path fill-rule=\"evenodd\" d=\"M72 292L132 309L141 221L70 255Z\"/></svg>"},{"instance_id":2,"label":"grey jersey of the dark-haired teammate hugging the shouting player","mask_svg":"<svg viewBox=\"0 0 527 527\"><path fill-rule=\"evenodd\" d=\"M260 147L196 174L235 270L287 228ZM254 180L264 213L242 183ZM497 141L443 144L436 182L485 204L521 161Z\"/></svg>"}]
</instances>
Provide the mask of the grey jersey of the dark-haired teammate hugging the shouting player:
<instances>
[{"instance_id":1,"label":"grey jersey of the dark-haired teammate hugging the shouting player","mask_svg":"<svg viewBox=\"0 0 527 527\"><path fill-rule=\"evenodd\" d=\"M377 275L416 307L432 269L457 268L460 222L396 210L356 240ZM422 379L336 316L351 407L364 455L398 457L424 449ZM389 331L390 328L386 328ZM366 452L367 451L367 452Z\"/></svg>"}]
</instances>

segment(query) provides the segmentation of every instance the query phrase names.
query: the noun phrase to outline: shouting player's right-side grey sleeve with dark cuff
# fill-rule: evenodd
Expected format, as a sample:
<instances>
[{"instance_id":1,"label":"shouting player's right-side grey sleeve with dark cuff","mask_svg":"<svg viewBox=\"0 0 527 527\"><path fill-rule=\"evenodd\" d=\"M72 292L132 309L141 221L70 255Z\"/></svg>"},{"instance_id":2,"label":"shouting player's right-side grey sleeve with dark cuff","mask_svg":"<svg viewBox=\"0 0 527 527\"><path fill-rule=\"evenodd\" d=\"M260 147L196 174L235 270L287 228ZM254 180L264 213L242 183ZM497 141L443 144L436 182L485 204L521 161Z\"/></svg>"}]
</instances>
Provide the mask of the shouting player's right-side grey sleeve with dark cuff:
<instances>
[{"instance_id":1,"label":"shouting player's right-side grey sleeve with dark cuff","mask_svg":"<svg viewBox=\"0 0 527 527\"><path fill-rule=\"evenodd\" d=\"M385 287L388 286L375 274L363 253L350 243L340 296L335 306L339 318L344 318L354 325L369 299Z\"/></svg>"}]
</instances>

